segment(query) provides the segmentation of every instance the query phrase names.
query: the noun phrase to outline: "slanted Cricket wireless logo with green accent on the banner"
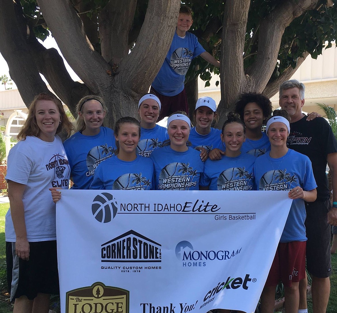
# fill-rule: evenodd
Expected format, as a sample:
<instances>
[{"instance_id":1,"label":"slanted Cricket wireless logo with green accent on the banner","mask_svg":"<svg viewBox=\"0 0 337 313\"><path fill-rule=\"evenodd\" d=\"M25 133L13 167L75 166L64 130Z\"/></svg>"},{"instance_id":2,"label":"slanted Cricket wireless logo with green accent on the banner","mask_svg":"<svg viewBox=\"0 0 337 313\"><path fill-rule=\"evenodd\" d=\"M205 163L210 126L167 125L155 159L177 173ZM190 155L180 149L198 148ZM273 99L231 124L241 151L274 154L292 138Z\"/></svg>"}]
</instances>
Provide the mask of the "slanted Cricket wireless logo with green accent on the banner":
<instances>
[{"instance_id":1,"label":"slanted Cricket wireless logo with green accent on the banner","mask_svg":"<svg viewBox=\"0 0 337 313\"><path fill-rule=\"evenodd\" d=\"M256 282L256 278L250 278L249 274L246 274L244 278L228 276L226 281L219 282L212 290L207 292L206 296L204 297L204 303L200 306L200 309L212 302L215 298L214 296L220 291L225 289L238 289L240 287L247 290L249 287L248 283L251 281Z\"/></svg>"}]
</instances>

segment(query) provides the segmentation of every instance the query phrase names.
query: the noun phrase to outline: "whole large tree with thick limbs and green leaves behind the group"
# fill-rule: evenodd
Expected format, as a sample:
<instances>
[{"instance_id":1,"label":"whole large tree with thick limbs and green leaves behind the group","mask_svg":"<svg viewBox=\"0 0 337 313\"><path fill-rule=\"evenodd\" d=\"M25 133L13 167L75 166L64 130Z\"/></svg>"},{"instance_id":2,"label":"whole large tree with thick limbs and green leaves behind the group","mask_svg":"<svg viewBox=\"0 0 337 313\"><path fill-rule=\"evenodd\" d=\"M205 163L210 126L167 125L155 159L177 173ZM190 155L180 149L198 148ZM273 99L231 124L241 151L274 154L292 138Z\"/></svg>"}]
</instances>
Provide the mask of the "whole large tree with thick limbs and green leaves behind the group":
<instances>
[{"instance_id":1,"label":"whole large tree with thick limbs and green leaves behind the group","mask_svg":"<svg viewBox=\"0 0 337 313\"><path fill-rule=\"evenodd\" d=\"M316 58L324 42L335 39L335 1L184 1L194 12L191 32L221 62L218 70L196 58L186 81L195 85L200 74L208 84L213 71L221 73L221 124L241 92L272 96L307 55ZM136 116L137 101L148 91L171 44L181 3L1 0L1 4L0 52L26 105L37 93L49 92L41 73L75 116L81 97L102 96L112 127L121 116ZM44 40L48 31L83 83L70 78L56 49L46 49L37 40Z\"/></svg>"}]
</instances>

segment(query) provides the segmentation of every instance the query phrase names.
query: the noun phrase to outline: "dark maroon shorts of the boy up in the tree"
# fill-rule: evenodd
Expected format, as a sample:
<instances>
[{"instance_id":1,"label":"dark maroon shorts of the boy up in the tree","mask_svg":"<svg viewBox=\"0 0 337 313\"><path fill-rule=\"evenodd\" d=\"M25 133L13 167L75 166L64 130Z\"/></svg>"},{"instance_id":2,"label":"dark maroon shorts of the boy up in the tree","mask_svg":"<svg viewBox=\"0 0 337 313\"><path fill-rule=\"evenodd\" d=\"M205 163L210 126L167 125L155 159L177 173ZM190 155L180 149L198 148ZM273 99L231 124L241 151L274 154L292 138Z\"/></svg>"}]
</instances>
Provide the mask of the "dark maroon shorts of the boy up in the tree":
<instances>
[{"instance_id":1,"label":"dark maroon shorts of the boy up in the tree","mask_svg":"<svg viewBox=\"0 0 337 313\"><path fill-rule=\"evenodd\" d=\"M152 86L150 92L155 94L161 102L161 110L158 121L177 111L184 111L188 116L188 102L185 87L182 92L172 97L160 94Z\"/></svg>"}]
</instances>

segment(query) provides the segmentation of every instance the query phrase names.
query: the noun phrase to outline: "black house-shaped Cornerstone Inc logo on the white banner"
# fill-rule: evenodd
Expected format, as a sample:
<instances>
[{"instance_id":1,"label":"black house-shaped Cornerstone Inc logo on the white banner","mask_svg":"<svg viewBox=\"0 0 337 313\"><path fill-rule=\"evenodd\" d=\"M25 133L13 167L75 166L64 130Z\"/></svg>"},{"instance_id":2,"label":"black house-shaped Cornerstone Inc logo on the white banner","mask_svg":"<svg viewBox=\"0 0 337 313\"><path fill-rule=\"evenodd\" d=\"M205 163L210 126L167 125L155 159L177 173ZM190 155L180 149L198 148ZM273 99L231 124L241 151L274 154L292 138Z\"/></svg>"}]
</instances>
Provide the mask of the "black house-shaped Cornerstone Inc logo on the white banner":
<instances>
[{"instance_id":1,"label":"black house-shaped Cornerstone Inc logo on the white banner","mask_svg":"<svg viewBox=\"0 0 337 313\"><path fill-rule=\"evenodd\" d=\"M134 230L101 245L101 262L161 262L161 244Z\"/></svg>"}]
</instances>

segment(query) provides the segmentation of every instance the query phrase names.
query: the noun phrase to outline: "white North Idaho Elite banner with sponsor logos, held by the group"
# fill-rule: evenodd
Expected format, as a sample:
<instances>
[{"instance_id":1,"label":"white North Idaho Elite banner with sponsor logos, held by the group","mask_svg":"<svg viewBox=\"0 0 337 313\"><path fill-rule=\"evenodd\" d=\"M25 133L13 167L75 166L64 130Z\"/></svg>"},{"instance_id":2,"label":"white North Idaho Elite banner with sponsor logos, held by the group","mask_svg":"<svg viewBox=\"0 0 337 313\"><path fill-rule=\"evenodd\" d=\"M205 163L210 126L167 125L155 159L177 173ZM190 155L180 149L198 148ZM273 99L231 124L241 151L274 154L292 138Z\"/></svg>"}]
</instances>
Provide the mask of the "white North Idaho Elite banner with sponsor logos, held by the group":
<instances>
[{"instance_id":1,"label":"white North Idaho Elite banner with sponsor logos, held by the group","mask_svg":"<svg viewBox=\"0 0 337 313\"><path fill-rule=\"evenodd\" d=\"M287 191L62 190L61 312L254 312Z\"/></svg>"}]
</instances>

